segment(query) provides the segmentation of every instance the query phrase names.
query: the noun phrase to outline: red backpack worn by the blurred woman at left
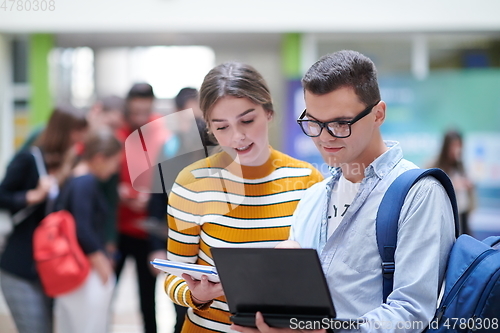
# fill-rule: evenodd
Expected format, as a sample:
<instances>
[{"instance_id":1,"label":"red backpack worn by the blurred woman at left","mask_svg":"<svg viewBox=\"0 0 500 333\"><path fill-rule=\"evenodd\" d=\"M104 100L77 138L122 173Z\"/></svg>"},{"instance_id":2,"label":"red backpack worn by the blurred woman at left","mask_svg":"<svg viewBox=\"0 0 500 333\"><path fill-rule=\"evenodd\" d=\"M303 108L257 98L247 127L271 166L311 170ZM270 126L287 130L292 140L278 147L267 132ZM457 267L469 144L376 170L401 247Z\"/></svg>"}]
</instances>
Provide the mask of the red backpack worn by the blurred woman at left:
<instances>
[{"instance_id":1,"label":"red backpack worn by the blurred woman at left","mask_svg":"<svg viewBox=\"0 0 500 333\"><path fill-rule=\"evenodd\" d=\"M45 293L51 297L76 289L90 271L78 244L75 219L66 210L50 213L35 229L33 257Z\"/></svg>"}]
</instances>

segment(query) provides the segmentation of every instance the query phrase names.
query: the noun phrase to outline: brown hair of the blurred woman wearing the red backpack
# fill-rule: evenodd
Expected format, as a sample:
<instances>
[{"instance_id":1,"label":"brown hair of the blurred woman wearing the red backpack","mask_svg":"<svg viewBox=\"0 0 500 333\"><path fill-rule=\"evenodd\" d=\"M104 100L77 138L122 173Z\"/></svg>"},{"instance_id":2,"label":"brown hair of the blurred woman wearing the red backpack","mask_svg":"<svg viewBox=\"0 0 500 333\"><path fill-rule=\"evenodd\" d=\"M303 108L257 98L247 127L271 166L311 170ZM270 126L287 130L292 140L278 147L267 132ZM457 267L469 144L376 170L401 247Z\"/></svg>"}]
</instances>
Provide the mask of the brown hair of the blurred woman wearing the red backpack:
<instances>
[{"instance_id":1,"label":"brown hair of the blurred woman wearing the red backpack","mask_svg":"<svg viewBox=\"0 0 500 333\"><path fill-rule=\"evenodd\" d=\"M118 154L122 144L109 129L101 128L90 132L84 143L83 160L90 160L97 154L111 157Z\"/></svg>"}]
</instances>

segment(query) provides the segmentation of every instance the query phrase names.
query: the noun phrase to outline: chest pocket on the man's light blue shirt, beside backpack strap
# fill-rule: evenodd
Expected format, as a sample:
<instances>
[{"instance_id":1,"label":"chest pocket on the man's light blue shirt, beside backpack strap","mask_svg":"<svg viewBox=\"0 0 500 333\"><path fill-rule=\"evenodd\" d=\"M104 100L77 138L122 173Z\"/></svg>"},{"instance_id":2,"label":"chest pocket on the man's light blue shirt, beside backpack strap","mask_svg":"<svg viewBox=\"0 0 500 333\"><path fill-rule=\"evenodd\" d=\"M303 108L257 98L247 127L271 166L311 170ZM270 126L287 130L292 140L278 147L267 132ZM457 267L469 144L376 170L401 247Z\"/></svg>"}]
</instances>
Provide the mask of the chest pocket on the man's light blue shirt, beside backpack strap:
<instances>
[{"instance_id":1,"label":"chest pocket on the man's light blue shirt, beside backpack strap","mask_svg":"<svg viewBox=\"0 0 500 333\"><path fill-rule=\"evenodd\" d=\"M373 220L356 221L345 235L339 252L344 264L358 273L381 270Z\"/></svg>"}]
</instances>

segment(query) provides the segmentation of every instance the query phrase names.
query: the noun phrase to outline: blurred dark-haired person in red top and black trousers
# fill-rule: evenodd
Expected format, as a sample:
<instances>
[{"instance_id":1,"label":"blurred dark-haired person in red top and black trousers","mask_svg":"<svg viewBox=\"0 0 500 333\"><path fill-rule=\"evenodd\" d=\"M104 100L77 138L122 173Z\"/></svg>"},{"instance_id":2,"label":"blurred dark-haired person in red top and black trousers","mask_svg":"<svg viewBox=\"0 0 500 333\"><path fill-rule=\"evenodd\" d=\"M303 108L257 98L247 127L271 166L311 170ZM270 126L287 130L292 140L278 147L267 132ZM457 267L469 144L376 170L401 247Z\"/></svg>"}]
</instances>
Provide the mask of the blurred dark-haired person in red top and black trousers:
<instances>
[{"instance_id":1,"label":"blurred dark-haired person in red top and black trousers","mask_svg":"<svg viewBox=\"0 0 500 333\"><path fill-rule=\"evenodd\" d=\"M140 130L144 125L160 118L153 113L155 95L153 87L148 83L136 83L128 92L125 100L125 117L123 126L118 129L117 137L125 142L129 135ZM155 124L153 124L155 125ZM148 128L149 129L149 128ZM156 128L152 135L158 143L147 147L148 153L157 155L161 144L165 142L164 131ZM128 152L142 158L144 152ZM151 180L152 181L152 180ZM147 191L146 191L147 192ZM138 192L132 186L126 155L123 154L118 186L118 252L116 275L119 278L127 257L135 261L140 308L144 322L145 333L156 333L155 285L157 271L150 269L152 258L166 258L164 242L152 241L143 224L148 218L148 203L150 194Z\"/></svg>"}]
</instances>

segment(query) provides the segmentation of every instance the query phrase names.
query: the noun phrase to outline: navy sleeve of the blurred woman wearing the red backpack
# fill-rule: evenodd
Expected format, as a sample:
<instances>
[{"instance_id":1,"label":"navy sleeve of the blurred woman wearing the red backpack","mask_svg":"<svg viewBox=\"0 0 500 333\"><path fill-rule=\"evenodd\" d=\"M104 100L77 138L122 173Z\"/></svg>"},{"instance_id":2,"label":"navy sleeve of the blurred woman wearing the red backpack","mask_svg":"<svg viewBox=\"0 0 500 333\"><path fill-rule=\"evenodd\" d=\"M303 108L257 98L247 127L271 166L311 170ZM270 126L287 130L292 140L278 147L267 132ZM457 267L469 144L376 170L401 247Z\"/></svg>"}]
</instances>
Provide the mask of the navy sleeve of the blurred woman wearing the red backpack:
<instances>
[{"instance_id":1,"label":"navy sleeve of the blurred woman wearing the red backpack","mask_svg":"<svg viewBox=\"0 0 500 333\"><path fill-rule=\"evenodd\" d=\"M69 191L69 211L75 218L78 243L85 254L99 251L100 242L92 228L97 182L89 177L79 177L73 179L69 186L72 186Z\"/></svg>"}]
</instances>

